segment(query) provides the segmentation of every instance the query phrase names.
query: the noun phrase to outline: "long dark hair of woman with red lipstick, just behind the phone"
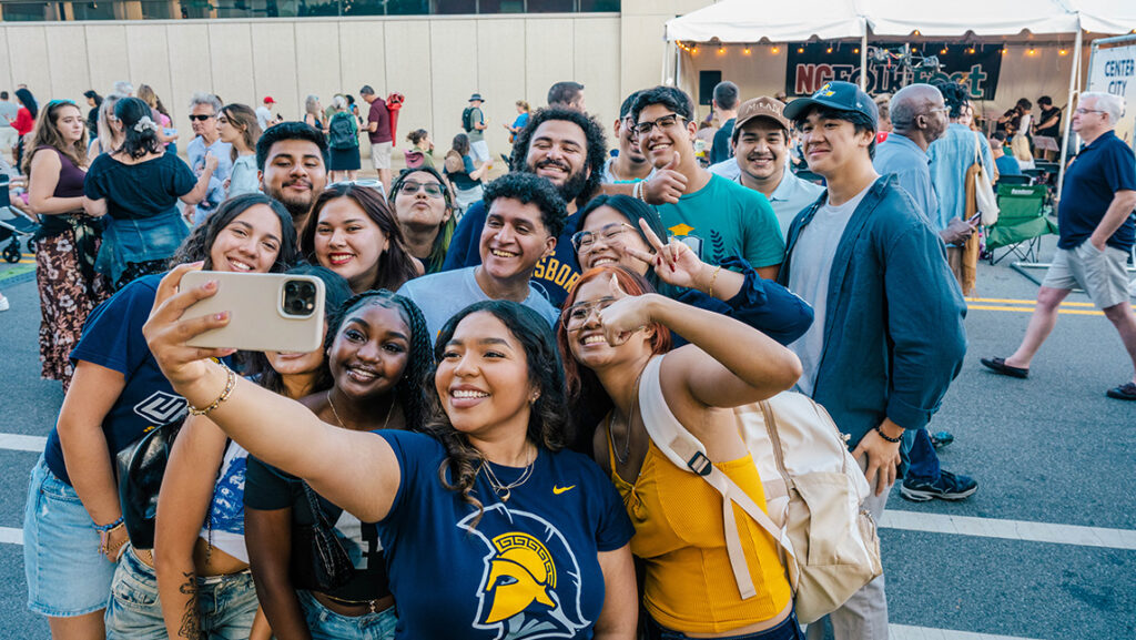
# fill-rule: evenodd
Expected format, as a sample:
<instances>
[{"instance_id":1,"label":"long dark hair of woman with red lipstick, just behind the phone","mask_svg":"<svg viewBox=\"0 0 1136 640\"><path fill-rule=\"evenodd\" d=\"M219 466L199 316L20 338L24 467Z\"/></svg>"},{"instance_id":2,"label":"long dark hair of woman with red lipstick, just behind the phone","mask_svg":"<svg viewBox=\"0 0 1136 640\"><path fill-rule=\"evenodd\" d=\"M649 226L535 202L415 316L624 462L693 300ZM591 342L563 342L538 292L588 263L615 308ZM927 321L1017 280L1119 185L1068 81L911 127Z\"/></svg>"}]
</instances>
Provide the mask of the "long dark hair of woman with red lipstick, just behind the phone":
<instances>
[{"instance_id":1,"label":"long dark hair of woman with red lipstick, just behind the phone","mask_svg":"<svg viewBox=\"0 0 1136 640\"><path fill-rule=\"evenodd\" d=\"M324 190L311 207L311 215L303 226L300 235L300 248L303 257L309 261L316 260L316 227L319 226L319 213L328 202L336 198L350 198L366 211L378 228L386 235L386 251L378 257L378 271L375 282L368 284L368 289L390 289L398 291L408 280L418 276L415 267L415 259L407 253L403 247L402 230L399 228L399 221L394 217L394 211L377 191L369 186L344 183L334 184Z\"/></svg>"}]
</instances>

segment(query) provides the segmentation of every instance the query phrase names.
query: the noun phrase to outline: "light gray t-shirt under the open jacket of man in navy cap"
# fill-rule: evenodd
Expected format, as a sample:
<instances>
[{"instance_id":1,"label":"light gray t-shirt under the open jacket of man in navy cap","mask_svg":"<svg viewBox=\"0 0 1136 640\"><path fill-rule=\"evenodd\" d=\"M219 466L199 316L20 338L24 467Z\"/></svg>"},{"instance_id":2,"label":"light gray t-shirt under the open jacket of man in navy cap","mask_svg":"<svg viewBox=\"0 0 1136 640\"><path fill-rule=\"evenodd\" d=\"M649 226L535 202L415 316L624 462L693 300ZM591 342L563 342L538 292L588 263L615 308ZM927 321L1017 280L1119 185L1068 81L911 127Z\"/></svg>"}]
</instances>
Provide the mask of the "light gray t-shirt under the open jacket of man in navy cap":
<instances>
[{"instance_id":1,"label":"light gray t-shirt under the open jacket of man in navy cap","mask_svg":"<svg viewBox=\"0 0 1136 640\"><path fill-rule=\"evenodd\" d=\"M875 183L872 183L875 184ZM801 230L790 261L788 289L805 302L812 305L812 325L804 335L788 346L801 358L803 372L794 391L812 396L820 368L820 356L825 349L825 314L828 305L828 276L833 271L836 248L852 214L871 189L857 193L854 198L838 207L825 202L812 221Z\"/></svg>"}]
</instances>

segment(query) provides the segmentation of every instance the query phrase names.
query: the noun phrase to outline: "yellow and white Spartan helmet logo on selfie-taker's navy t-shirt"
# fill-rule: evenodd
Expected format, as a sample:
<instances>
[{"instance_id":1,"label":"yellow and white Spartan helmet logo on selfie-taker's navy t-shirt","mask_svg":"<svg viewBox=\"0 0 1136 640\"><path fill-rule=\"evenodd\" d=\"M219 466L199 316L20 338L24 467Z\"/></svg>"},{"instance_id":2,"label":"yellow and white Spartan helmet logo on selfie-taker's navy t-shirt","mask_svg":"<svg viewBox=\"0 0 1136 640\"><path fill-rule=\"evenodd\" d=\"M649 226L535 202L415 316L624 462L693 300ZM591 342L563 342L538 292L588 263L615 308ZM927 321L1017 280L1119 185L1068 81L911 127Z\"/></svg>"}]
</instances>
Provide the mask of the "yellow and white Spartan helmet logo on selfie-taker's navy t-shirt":
<instances>
[{"instance_id":1,"label":"yellow and white Spartan helmet logo on selfie-taker's navy t-shirt","mask_svg":"<svg viewBox=\"0 0 1136 640\"><path fill-rule=\"evenodd\" d=\"M574 638L591 622L580 613L579 565L563 535L544 518L503 504L485 508L458 526L486 546L477 589L475 629L496 631L496 640Z\"/></svg>"}]
</instances>

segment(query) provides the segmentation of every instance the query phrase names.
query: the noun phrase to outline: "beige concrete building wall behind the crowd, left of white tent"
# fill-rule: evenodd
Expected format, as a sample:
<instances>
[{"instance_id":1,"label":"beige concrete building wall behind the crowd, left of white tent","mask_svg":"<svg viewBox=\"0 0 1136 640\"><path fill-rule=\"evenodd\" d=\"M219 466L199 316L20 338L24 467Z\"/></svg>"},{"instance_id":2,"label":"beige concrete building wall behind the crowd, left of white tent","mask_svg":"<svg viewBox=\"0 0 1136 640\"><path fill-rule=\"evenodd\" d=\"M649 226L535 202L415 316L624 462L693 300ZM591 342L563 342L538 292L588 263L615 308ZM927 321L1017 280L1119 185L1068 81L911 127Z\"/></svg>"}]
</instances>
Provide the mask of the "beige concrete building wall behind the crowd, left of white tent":
<instances>
[{"instance_id":1,"label":"beige concrete building wall behind the crowd, left of white tent","mask_svg":"<svg viewBox=\"0 0 1136 640\"><path fill-rule=\"evenodd\" d=\"M41 101L69 98L82 105L87 89L106 94L119 80L147 83L170 110L184 143L194 91L253 107L272 95L285 118L300 118L308 94L327 107L335 93L358 97L359 88L370 84L383 97L395 91L407 97L398 148L409 146L407 133L423 127L442 151L461 131L461 110L476 91L486 99L487 140L496 156L509 150L502 124L516 118L513 102L544 106L554 82L584 83L588 110L603 123L615 119L626 86L659 82L658 70L628 76L623 22L618 14L561 14L0 23L0 58L8 60L0 65L0 86L25 83ZM630 38L645 47L634 51L633 66L657 66L661 27L650 38Z\"/></svg>"}]
</instances>

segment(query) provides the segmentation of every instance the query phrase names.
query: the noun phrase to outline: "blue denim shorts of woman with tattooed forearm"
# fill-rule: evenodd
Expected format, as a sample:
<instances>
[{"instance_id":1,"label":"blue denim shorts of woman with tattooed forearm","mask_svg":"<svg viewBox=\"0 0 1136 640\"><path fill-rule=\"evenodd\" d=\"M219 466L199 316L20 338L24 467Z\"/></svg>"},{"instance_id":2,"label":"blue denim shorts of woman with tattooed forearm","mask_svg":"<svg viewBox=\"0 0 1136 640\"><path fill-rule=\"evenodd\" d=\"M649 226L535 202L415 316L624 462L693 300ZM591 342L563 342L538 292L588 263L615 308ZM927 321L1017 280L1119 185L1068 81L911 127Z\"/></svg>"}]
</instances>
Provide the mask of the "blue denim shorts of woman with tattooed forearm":
<instances>
[{"instance_id":1,"label":"blue denim shorts of woman with tattooed forearm","mask_svg":"<svg viewBox=\"0 0 1136 640\"><path fill-rule=\"evenodd\" d=\"M252 574L198 579L198 614L201 632L215 640L244 640L257 615ZM164 640L166 622L158 599L158 576L126 548L111 585L107 607L107 640Z\"/></svg>"}]
</instances>

